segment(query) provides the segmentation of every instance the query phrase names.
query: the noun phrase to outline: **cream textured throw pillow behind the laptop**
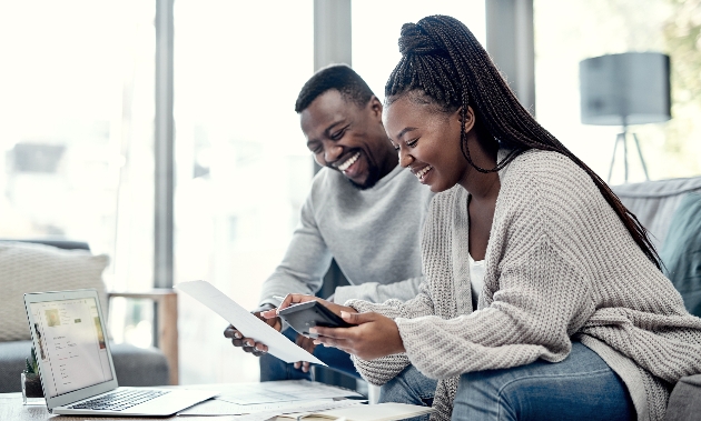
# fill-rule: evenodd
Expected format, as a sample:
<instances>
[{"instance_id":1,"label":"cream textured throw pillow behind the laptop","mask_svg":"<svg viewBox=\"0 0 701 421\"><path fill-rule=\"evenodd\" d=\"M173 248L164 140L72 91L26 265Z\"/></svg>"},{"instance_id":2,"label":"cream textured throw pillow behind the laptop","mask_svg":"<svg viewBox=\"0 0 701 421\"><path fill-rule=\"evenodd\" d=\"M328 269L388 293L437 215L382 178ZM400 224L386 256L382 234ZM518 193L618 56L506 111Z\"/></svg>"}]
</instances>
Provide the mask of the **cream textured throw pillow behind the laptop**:
<instances>
[{"instance_id":1,"label":"cream textured throw pillow behind the laptop","mask_svg":"<svg viewBox=\"0 0 701 421\"><path fill-rule=\"evenodd\" d=\"M51 245L0 242L0 342L30 339L24 311L26 292L95 288L107 312L102 271L106 254L62 250Z\"/></svg>"}]
</instances>

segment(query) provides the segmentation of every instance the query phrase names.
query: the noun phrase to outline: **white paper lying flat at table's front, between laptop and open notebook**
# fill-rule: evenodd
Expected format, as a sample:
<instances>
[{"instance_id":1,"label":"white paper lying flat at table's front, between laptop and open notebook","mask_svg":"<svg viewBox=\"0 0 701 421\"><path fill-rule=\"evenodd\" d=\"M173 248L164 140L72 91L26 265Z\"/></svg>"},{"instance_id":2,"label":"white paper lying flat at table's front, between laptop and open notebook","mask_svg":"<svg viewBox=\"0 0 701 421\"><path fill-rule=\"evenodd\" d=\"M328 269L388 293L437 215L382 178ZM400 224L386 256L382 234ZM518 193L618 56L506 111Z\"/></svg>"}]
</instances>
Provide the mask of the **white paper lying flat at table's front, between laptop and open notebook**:
<instances>
[{"instance_id":1,"label":"white paper lying flat at table's front, between laptop and open notebook","mask_svg":"<svg viewBox=\"0 0 701 421\"><path fill-rule=\"evenodd\" d=\"M276 402L253 405L238 405L226 401L209 400L190 407L178 412L178 415L266 415L266 418L276 417L286 413L324 411L329 409L346 408L349 405L361 404L355 400L315 400L315 401L297 401L297 402Z\"/></svg>"}]
</instances>

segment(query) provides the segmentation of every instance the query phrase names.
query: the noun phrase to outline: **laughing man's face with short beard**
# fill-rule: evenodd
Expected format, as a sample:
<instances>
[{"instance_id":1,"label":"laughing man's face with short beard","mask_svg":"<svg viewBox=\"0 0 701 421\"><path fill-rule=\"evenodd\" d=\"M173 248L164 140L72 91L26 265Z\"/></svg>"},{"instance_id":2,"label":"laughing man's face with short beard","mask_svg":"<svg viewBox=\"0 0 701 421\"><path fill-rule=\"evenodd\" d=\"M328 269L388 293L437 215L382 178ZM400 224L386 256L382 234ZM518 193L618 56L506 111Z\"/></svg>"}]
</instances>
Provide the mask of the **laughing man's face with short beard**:
<instances>
[{"instance_id":1,"label":"laughing man's face with short beard","mask_svg":"<svg viewBox=\"0 0 701 421\"><path fill-rule=\"evenodd\" d=\"M302 111L302 131L316 162L343 172L352 184L369 189L397 164L377 98L359 107L330 89Z\"/></svg>"}]
</instances>

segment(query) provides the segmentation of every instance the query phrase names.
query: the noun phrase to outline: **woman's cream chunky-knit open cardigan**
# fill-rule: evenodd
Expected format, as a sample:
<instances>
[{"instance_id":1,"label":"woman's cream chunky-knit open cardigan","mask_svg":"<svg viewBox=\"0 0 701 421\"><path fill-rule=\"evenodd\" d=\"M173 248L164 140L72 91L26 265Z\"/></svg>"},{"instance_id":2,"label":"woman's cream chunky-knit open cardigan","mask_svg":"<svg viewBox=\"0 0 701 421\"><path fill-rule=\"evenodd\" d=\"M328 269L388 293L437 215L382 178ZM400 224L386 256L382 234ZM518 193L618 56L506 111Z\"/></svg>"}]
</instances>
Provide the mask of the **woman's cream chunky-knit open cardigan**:
<instances>
[{"instance_id":1,"label":"woman's cream chunky-knit open cardigan","mask_svg":"<svg viewBox=\"0 0 701 421\"><path fill-rule=\"evenodd\" d=\"M404 303L346 303L394 319L406 349L372 361L354 357L358 371L384 384L414 364L440 379L432 420L448 420L460 374L539 358L559 362L574 338L623 379L638 420L661 420L674 382L701 372L701 319L687 312L569 158L531 150L500 180L477 310L470 290L468 193L456 186L431 204L419 294Z\"/></svg>"}]
</instances>

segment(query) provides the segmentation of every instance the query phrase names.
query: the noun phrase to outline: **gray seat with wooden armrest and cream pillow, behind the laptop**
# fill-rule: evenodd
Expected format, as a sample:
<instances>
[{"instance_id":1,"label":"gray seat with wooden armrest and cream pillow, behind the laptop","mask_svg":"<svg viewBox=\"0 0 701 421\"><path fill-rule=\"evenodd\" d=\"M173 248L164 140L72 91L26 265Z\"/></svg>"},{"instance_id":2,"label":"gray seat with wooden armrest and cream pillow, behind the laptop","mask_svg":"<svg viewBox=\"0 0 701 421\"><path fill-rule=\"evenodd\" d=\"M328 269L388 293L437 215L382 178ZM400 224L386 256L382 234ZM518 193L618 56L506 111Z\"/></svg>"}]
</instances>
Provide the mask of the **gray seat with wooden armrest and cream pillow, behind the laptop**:
<instances>
[{"instance_id":1,"label":"gray seat with wooden armrest and cream pillow, behind the laptop","mask_svg":"<svg viewBox=\"0 0 701 421\"><path fill-rule=\"evenodd\" d=\"M29 357L24 292L95 288L105 317L115 297L150 299L157 305L157 347L115 343L110 349L120 385L178 383L177 295L172 290L107 291L102 271L107 255L93 255L87 243L0 240L0 393L20 392L20 373Z\"/></svg>"}]
</instances>

